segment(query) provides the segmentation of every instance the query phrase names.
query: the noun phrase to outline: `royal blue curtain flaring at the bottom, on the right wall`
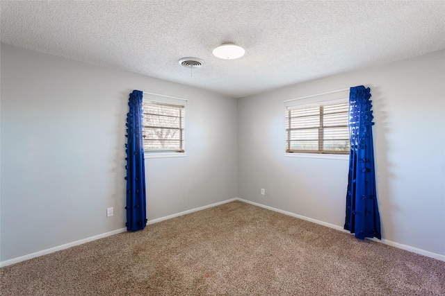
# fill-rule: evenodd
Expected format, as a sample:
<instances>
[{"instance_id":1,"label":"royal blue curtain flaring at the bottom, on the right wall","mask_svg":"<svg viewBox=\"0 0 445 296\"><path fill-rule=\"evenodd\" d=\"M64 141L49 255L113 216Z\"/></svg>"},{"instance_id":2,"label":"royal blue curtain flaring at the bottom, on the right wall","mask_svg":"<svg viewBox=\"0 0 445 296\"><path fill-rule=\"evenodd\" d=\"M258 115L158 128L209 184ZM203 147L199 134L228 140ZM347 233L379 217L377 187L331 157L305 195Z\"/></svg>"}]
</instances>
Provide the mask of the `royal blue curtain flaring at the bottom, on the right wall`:
<instances>
[{"instance_id":1,"label":"royal blue curtain flaring at the bottom, on the right wall","mask_svg":"<svg viewBox=\"0 0 445 296\"><path fill-rule=\"evenodd\" d=\"M380 215L375 191L371 89L351 87L349 94L349 175L344 229L356 238L380 235Z\"/></svg>"}]
</instances>

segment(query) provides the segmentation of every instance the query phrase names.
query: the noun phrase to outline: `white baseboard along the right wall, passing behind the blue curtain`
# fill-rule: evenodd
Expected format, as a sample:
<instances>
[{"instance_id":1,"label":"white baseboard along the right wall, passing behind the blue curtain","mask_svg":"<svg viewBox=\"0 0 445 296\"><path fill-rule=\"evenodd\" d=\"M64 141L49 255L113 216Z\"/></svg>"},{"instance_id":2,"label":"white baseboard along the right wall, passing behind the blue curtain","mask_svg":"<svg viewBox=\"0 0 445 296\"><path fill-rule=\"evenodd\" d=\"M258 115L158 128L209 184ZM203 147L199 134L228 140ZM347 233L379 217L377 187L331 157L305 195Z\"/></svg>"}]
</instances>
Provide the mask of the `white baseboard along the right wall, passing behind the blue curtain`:
<instances>
[{"instance_id":1,"label":"white baseboard along the right wall, passing behind the blue curtain","mask_svg":"<svg viewBox=\"0 0 445 296\"><path fill-rule=\"evenodd\" d=\"M264 204L259 204L257 202L251 202L250 200L243 200L242 198L236 198L236 200L239 200L241 202L246 202L248 204L253 204L254 206L262 207L264 209L270 209L271 211L277 211L278 213L281 213L281 214L284 214L284 215L287 215L287 216L292 216L292 217L299 218L299 219L302 219L302 220L307 220L307 221L312 222L312 223L316 223L316 224L323 225L323 226L326 226L326 227L334 228L334 229L337 229L337 230L339 230L341 232L346 232L346 233L350 234L350 232L348 232L347 230L343 229L343 227L341 227L339 225L334 225L334 224L331 224L331 223L323 222L321 220L316 220L316 219L309 218L309 217L306 217L306 216L301 216L301 215L298 215L298 214L295 214L295 213L291 213L290 211L283 211L282 209L276 209L274 207L269 207L269 206L266 206ZM433 252L429 252L429 251L426 251L426 250L419 249L417 247L412 247L410 245L403 245L402 243L396 243L394 241L389 241L389 240L387 240L385 238L382 238L382 240L378 240L377 238L366 238L366 239L370 239L371 241L375 241L377 243L383 243L385 245L391 245L391 247L397 247L398 249L402 249L402 250L405 250L405 251L413 252L413 253L416 253L416 254L421 254L423 256L427 256L427 257L430 257L430 258L437 259L437 260L445 262L445 255L442 255L442 254L436 254L436 253L433 253Z\"/></svg>"}]
</instances>

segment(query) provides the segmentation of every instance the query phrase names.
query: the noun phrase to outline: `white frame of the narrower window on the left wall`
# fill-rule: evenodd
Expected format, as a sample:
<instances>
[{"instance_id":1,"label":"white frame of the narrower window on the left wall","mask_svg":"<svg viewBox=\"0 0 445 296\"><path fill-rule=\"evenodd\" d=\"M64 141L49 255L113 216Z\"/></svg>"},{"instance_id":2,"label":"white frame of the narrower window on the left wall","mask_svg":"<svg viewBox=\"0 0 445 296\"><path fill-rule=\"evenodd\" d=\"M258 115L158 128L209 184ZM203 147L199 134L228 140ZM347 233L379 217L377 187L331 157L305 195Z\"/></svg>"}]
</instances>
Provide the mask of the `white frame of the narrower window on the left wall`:
<instances>
[{"instance_id":1,"label":"white frame of the narrower window on the left wall","mask_svg":"<svg viewBox=\"0 0 445 296\"><path fill-rule=\"evenodd\" d=\"M165 103L161 101L154 101L150 100L149 98L143 98L143 116L148 116L149 114L145 112L144 105L157 105L157 106L168 106L168 107L175 107L177 109L180 109L179 112L179 128L172 128L172 127L165 127L163 125L144 125L143 129L145 128L169 128L169 129L176 129L179 130L179 143L180 147L179 149L149 149L145 148L144 144L144 155L145 158L162 158L162 157L184 157L186 156L186 150L185 150L185 105L175 104L175 103ZM152 114L154 116L160 116L159 114ZM161 115L162 116L162 115ZM165 117L167 117L165 115ZM145 138L145 132L143 132L143 137ZM145 140L143 140L145 141Z\"/></svg>"}]
</instances>

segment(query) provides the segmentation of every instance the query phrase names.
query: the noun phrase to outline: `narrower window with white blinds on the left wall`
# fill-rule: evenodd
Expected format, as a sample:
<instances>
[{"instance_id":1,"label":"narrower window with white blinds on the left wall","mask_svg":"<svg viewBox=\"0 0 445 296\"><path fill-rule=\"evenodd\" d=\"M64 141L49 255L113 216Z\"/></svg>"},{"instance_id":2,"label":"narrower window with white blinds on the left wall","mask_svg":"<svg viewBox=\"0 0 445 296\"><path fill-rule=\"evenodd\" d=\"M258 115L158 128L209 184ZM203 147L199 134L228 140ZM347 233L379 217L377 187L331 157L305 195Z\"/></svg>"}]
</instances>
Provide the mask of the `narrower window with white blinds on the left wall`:
<instances>
[{"instance_id":1,"label":"narrower window with white blinds on the left wall","mask_svg":"<svg viewBox=\"0 0 445 296\"><path fill-rule=\"evenodd\" d=\"M184 153L184 106L143 101L145 152Z\"/></svg>"}]
</instances>

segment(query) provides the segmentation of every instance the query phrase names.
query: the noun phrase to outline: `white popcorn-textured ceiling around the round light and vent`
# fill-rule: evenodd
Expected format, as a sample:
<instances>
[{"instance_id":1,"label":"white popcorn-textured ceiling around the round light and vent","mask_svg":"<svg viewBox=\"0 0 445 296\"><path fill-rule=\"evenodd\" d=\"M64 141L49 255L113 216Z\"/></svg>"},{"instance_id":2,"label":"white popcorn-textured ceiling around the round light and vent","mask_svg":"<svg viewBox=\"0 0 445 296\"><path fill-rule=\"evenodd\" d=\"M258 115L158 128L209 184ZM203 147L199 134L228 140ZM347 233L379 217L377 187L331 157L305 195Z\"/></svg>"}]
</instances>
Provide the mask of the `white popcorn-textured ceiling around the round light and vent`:
<instances>
[{"instance_id":1,"label":"white popcorn-textured ceiling around the round light and vent","mask_svg":"<svg viewBox=\"0 0 445 296\"><path fill-rule=\"evenodd\" d=\"M7 44L236 98L445 49L444 1L1 1L0 9ZM214 57L225 42L245 55ZM191 73L184 57L204 65Z\"/></svg>"}]
</instances>

